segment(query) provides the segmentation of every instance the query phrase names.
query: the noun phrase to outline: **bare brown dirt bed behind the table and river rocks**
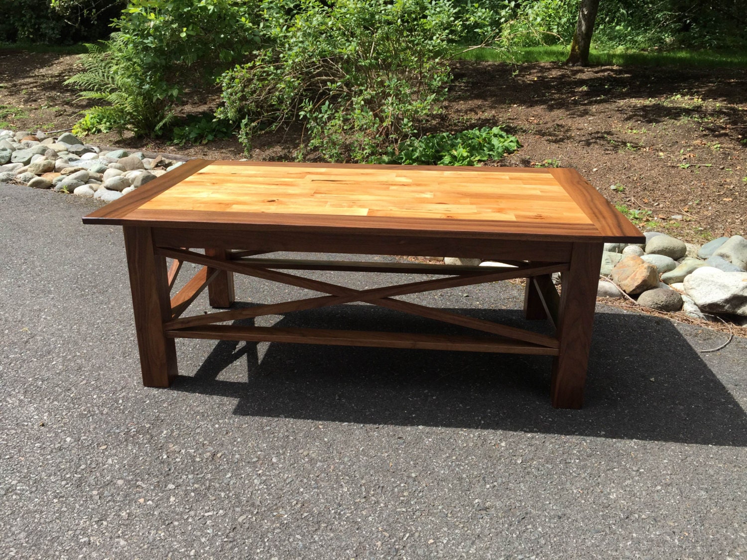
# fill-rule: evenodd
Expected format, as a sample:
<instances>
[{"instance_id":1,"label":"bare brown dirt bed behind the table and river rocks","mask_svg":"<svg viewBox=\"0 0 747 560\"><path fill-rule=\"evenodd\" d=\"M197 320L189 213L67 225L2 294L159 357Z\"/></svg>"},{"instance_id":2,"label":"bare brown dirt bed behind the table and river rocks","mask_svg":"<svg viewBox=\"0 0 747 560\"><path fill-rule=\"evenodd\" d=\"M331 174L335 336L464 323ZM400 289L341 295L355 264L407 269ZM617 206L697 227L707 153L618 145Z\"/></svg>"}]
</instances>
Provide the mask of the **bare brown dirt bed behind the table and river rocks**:
<instances>
[{"instance_id":1,"label":"bare brown dirt bed behind the table and river rocks","mask_svg":"<svg viewBox=\"0 0 747 560\"><path fill-rule=\"evenodd\" d=\"M77 57L0 51L0 128L69 128L87 102L63 85ZM644 229L684 240L747 232L747 70L459 63L434 130L501 125L522 148L493 165L575 167ZM183 113L210 110L202 92ZM299 131L173 146L100 134L90 143L199 158L292 160Z\"/></svg>"}]
</instances>

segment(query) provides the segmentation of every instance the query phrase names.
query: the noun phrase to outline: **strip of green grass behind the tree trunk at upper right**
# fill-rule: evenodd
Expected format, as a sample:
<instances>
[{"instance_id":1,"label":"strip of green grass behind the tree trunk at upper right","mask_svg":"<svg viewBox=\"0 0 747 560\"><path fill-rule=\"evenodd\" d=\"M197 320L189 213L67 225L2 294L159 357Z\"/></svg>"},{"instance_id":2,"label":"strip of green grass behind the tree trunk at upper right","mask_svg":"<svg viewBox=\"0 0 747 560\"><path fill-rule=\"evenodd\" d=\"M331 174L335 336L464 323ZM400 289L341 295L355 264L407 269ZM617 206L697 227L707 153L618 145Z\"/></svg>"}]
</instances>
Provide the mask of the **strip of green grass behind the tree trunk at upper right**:
<instances>
[{"instance_id":1,"label":"strip of green grass behind the tree trunk at upper right","mask_svg":"<svg viewBox=\"0 0 747 560\"><path fill-rule=\"evenodd\" d=\"M465 52L460 60L486 62L565 62L568 47L562 45L523 47L508 52L494 49L473 49ZM589 62L598 66L683 66L746 68L747 51L671 51L671 52L624 52L598 51L592 49Z\"/></svg>"}]
</instances>

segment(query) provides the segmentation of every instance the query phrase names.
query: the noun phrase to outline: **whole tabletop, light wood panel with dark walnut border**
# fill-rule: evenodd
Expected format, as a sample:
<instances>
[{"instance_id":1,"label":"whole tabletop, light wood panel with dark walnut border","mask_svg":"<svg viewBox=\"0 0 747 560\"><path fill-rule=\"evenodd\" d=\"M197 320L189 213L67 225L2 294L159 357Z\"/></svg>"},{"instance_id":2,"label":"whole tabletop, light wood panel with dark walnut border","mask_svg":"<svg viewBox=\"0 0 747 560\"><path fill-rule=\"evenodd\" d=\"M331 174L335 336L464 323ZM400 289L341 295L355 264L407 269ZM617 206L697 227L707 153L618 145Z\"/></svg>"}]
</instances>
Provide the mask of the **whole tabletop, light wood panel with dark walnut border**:
<instances>
[{"instance_id":1,"label":"whole tabletop, light wood panel with dark walnut border","mask_svg":"<svg viewBox=\"0 0 747 560\"><path fill-rule=\"evenodd\" d=\"M84 222L642 240L574 169L191 161L177 172Z\"/></svg>"}]
</instances>

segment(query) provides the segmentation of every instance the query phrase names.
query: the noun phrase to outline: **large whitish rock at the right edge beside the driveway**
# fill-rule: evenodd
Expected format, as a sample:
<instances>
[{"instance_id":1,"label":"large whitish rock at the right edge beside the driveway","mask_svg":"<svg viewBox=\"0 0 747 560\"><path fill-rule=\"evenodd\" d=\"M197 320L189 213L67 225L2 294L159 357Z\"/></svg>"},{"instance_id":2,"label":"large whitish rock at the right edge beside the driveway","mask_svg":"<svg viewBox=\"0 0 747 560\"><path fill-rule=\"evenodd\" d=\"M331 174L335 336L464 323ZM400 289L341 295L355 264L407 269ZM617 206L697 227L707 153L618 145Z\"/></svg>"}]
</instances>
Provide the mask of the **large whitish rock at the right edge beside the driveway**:
<instances>
[{"instance_id":1,"label":"large whitish rock at the right edge beside the driveway","mask_svg":"<svg viewBox=\"0 0 747 560\"><path fill-rule=\"evenodd\" d=\"M747 272L701 267L687 276L685 291L701 311L747 317Z\"/></svg>"}]
</instances>

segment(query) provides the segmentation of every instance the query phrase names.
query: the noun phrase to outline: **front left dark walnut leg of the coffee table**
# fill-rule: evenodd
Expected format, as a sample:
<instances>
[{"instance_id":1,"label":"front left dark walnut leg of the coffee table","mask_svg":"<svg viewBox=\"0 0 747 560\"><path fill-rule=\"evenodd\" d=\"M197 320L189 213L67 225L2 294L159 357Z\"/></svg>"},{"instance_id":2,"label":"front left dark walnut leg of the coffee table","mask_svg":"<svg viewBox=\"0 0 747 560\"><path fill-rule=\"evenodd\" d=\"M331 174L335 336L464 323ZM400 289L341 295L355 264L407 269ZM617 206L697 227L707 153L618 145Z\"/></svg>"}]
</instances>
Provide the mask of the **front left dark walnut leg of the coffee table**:
<instances>
[{"instance_id":1,"label":"front left dark walnut leg of the coffee table","mask_svg":"<svg viewBox=\"0 0 747 560\"><path fill-rule=\"evenodd\" d=\"M143 385L168 387L178 370L174 339L163 327L171 319L166 258L153 252L150 228L123 229Z\"/></svg>"}]
</instances>

